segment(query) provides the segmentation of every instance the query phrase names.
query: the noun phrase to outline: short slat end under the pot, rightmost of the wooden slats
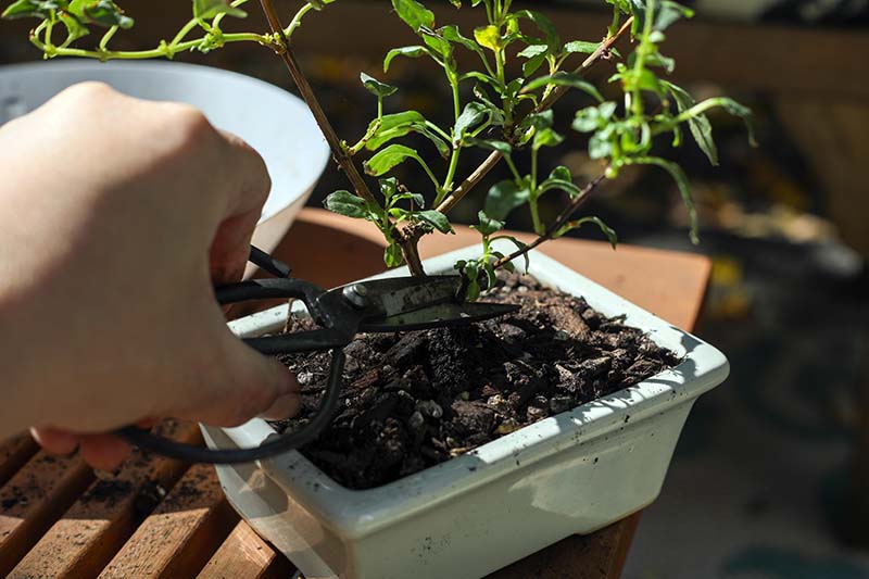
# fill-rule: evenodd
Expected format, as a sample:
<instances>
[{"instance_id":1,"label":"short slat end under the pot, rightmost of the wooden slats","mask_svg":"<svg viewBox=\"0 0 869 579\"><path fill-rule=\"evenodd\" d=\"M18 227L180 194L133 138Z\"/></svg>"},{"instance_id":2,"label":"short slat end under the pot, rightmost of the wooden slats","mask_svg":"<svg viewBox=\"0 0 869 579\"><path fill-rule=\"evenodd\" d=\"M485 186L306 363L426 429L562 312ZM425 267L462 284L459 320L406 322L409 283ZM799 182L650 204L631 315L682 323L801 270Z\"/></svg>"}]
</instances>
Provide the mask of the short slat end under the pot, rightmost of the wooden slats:
<instances>
[{"instance_id":1,"label":"short slat end under the pot, rightmost of the wooden slats","mask_svg":"<svg viewBox=\"0 0 869 579\"><path fill-rule=\"evenodd\" d=\"M265 579L290 577L292 565L240 520L209 561L200 579Z\"/></svg>"}]
</instances>

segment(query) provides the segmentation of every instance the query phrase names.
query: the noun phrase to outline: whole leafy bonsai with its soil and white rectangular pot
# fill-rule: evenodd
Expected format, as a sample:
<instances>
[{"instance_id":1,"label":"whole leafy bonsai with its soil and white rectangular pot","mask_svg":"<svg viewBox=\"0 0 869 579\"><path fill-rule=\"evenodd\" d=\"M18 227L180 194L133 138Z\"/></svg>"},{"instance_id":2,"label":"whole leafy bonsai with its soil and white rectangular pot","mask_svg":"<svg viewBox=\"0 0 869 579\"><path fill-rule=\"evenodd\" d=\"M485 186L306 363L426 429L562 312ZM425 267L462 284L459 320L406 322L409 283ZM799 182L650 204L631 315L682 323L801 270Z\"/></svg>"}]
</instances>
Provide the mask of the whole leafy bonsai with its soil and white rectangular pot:
<instances>
[{"instance_id":1,"label":"whole leafy bonsai with its soil and white rectangular pot","mask_svg":"<svg viewBox=\"0 0 869 579\"><path fill-rule=\"evenodd\" d=\"M489 299L529 307L525 318L507 324L352 344L348 411L323 437L329 442L307 449L307 458L290 453L259 466L218 468L234 504L311 576L407 577L425 568L421 576L471 577L651 502L691 404L723 380L727 362L711 347L536 250L585 225L599 227L615 246L615 231L580 210L631 165L659 167L675 179L697 241L688 179L678 164L660 156L659 147L682 146L688 128L717 164L707 113L722 108L742 117L750 135L752 125L751 112L735 101L696 102L664 78L675 66L660 52L665 32L691 11L670 0L606 0L613 22L603 39L565 41L543 13L515 8L512 0L465 0L470 5L464 7L484 17L473 32L437 23L417 0L392 0L395 15L418 40L389 51L383 71L395 59L430 61L452 95L452 126L413 110L388 113L385 103L398 88L362 73L375 114L363 135L347 140L336 134L292 45L314 12L340 10L330 7L336 0L304 3L286 26L270 0L261 0L268 32L225 33L224 21L243 17L247 3L194 0L192 18L171 40L133 52L111 48L115 35L133 26L111 0L17 0L4 16L38 18L30 41L49 59L172 59L242 41L272 49L349 179L347 190L327 198L327 209L380 230L390 267L405 263L415 276L457 269L467 280L468 298L489 290ZM102 36L86 45L92 30ZM622 56L616 45L626 37L633 49ZM459 66L459 52L476 66L464 67L467 59ZM517 60L521 76L513 77L511 64ZM585 74L604 61L615 61L615 72L599 87ZM570 90L588 99L570 112L571 129L589 135L589 155L600 163L600 175L585 184L577 184L565 166L539 171L541 155L564 147L554 105ZM408 147L403 139L412 134L429 146ZM462 178L459 161L473 150L488 156ZM511 177L489 189L474 226L481 247L424 264L419 240L449 235L451 210L502 162ZM408 163L425 175L425 190L398 178L396 167ZM541 200L556 194L561 211L546 219ZM530 213L533 242L501 232L515 211ZM517 277L505 280L501 269L530 273L562 292ZM284 306L240 320L234 329L242 336L278 331L288 313ZM306 323L290 320L291 326ZM482 355L475 353L478 348ZM316 406L323 360L285 362L298 372L306 405ZM206 430L219 445L253 445L274 432L263 421ZM264 477L257 478L260 471ZM336 480L367 490L350 491ZM577 486L589 493L579 506ZM481 488L489 494L481 495ZM512 508L496 508L507 502ZM516 525L534 532L516 534L511 531Z\"/></svg>"}]
</instances>

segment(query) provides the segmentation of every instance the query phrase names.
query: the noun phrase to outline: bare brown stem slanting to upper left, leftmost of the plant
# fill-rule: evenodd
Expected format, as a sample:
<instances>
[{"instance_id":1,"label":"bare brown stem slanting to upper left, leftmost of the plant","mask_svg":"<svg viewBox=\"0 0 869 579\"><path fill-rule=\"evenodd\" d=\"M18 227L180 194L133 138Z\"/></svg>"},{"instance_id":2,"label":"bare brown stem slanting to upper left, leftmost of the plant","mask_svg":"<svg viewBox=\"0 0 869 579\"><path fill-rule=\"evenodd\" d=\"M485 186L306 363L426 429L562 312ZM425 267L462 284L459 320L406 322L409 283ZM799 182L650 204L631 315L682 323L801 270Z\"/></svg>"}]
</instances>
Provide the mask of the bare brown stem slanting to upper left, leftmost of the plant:
<instances>
[{"instance_id":1,"label":"bare brown stem slanting to upper left, leftmost of the plant","mask_svg":"<svg viewBox=\"0 0 869 579\"><path fill-rule=\"evenodd\" d=\"M326 137L326 141L329 143L329 148L332 151L335 161L347 174L356 194L369 203L377 204L377 199L374 197L374 194L371 194L370 189L368 189L368 185L365 182L362 174L356 168L356 164L353 162L353 159L347 154L347 151L344 151L344 148L341 144L341 139L338 138L338 134L335 131L329 118L326 116L326 113L317 100L316 95L314 95L314 89L311 87L311 83L307 81L304 73L302 73L302 70L299 67L299 63L297 62L295 55L290 48L287 36L284 34L284 27L280 25L280 20L275 12L275 7L272 5L272 0L260 0L260 3L262 4L263 12L268 20L268 26L272 28L272 33L280 42L280 47L278 50L276 50L276 52L287 65L287 68L290 71L290 76L292 76L295 86L299 87L299 92L307 103L308 109L311 109L311 113L314 115L317 125L319 125L319 129L323 131L323 135Z\"/></svg>"}]
</instances>

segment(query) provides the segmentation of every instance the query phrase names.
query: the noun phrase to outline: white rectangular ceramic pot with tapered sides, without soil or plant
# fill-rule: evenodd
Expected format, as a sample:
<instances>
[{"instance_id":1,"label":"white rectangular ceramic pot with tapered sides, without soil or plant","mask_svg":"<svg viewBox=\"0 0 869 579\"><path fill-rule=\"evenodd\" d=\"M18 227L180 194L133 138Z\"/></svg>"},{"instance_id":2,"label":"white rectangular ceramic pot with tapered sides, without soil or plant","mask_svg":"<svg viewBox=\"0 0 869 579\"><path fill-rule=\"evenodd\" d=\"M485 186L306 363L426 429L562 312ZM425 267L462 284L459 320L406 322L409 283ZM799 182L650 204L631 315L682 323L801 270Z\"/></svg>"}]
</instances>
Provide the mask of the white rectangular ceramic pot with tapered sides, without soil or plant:
<instances>
[{"instance_id":1,"label":"white rectangular ceramic pot with tapered sides, without soil or plant","mask_svg":"<svg viewBox=\"0 0 869 579\"><path fill-rule=\"evenodd\" d=\"M427 270L452 272L456 260L479 251L429 260ZM219 467L238 512L306 578L482 577L570 534L601 529L657 496L691 406L725 380L727 360L540 253L531 255L529 273L585 298L606 315L626 314L628 325L648 332L682 363L371 490L341 487L298 452ZM286 305L276 307L231 328L242 337L276 331L287 314ZM250 446L274 430L257 419L240 428L205 428L205 433L213 446Z\"/></svg>"}]
</instances>

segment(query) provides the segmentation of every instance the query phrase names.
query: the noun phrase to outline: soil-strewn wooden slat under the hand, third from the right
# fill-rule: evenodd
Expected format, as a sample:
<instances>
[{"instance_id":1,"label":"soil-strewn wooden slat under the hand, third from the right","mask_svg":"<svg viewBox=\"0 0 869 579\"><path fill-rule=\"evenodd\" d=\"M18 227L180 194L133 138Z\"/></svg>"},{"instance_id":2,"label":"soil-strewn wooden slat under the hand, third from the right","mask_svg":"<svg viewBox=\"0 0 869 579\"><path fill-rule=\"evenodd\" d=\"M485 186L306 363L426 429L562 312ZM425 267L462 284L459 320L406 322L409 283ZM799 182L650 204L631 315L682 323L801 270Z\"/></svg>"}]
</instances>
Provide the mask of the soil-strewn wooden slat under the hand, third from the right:
<instances>
[{"instance_id":1,"label":"soil-strewn wooden slat under the hand, third from the right","mask_svg":"<svg viewBox=\"0 0 869 579\"><path fill-rule=\"evenodd\" d=\"M158 433L197 443L193 423L167 420ZM12 570L10 577L95 577L158 505L187 465L136 453L117 476L97 480Z\"/></svg>"}]
</instances>

